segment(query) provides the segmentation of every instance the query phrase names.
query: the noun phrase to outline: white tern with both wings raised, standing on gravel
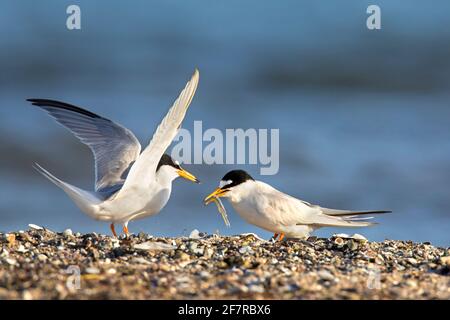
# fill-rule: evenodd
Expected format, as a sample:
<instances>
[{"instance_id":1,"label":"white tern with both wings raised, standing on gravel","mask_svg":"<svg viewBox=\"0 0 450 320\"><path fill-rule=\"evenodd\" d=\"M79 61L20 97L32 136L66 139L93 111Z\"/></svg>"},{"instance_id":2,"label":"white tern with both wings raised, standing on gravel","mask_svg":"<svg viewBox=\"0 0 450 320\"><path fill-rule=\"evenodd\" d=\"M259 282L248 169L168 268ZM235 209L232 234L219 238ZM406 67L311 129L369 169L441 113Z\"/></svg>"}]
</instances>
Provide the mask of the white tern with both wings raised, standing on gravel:
<instances>
[{"instance_id":1,"label":"white tern with both wings raised, standing on gravel","mask_svg":"<svg viewBox=\"0 0 450 320\"><path fill-rule=\"evenodd\" d=\"M198 81L199 72L195 70L142 153L134 134L111 120L64 102L28 99L92 150L95 191L70 185L38 164L36 170L63 189L88 216L109 222L114 236L117 236L115 223L122 224L123 232L128 234L129 221L155 215L166 205L172 181L177 177L199 182L165 154L181 126Z\"/></svg>"}]
</instances>

